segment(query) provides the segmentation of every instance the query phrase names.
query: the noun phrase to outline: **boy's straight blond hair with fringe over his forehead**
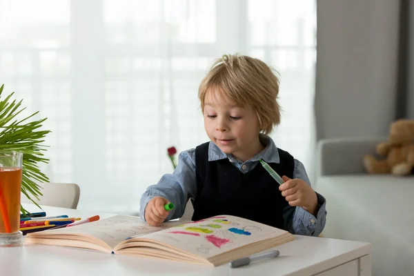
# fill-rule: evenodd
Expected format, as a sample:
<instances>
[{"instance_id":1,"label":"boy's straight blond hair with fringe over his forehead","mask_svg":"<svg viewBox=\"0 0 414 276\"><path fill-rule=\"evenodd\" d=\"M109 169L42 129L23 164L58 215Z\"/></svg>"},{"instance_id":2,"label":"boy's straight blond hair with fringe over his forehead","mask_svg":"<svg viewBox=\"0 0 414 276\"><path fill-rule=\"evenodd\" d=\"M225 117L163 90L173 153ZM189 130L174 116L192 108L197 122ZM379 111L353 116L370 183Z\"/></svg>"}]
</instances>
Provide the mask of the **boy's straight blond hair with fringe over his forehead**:
<instances>
[{"instance_id":1,"label":"boy's straight blond hair with fringe over his forehead","mask_svg":"<svg viewBox=\"0 0 414 276\"><path fill-rule=\"evenodd\" d=\"M279 79L259 59L239 55L224 55L216 59L199 85L201 110L204 110L208 91L235 101L238 106L253 108L264 134L270 133L280 122L280 107L276 100Z\"/></svg>"}]
</instances>

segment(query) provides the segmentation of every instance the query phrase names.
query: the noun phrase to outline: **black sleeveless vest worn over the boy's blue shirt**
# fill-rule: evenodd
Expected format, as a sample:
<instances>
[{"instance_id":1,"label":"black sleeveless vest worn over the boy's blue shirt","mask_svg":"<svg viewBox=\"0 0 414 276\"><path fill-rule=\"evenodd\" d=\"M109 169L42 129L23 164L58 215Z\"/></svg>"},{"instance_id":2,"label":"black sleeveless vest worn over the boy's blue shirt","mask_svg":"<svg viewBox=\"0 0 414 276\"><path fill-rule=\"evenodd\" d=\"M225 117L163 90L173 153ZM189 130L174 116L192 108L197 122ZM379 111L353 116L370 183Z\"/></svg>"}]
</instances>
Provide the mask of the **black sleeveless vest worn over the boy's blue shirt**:
<instances>
[{"instance_id":1,"label":"black sleeveless vest worn over the boy's blue shirt","mask_svg":"<svg viewBox=\"0 0 414 276\"><path fill-rule=\"evenodd\" d=\"M195 149L197 197L193 200L193 221L215 215L235 215L284 230L291 230L295 207L289 206L279 184L257 164L245 174L230 161L208 161L208 143ZM293 178L295 161L279 151L279 164L270 163L281 177Z\"/></svg>"}]
</instances>

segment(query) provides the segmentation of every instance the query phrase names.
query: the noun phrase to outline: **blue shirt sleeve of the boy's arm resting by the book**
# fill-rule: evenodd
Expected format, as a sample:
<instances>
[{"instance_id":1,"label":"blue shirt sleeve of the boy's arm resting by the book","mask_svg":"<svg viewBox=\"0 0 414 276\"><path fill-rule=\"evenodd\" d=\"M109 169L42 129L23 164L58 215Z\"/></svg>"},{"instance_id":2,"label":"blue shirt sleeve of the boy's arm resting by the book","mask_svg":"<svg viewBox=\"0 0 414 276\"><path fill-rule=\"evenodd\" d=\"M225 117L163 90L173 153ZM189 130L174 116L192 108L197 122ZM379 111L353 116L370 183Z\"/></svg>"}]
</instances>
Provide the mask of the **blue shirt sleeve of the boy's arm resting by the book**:
<instances>
[{"instance_id":1,"label":"blue shirt sleeve of the boy's arm resting by the book","mask_svg":"<svg viewBox=\"0 0 414 276\"><path fill-rule=\"evenodd\" d=\"M175 205L166 220L182 217L189 198L197 193L195 177L195 149L181 152L177 168L173 173L163 175L157 185L149 186L141 196L139 216L145 220L145 208L153 197L165 197Z\"/></svg>"}]
</instances>

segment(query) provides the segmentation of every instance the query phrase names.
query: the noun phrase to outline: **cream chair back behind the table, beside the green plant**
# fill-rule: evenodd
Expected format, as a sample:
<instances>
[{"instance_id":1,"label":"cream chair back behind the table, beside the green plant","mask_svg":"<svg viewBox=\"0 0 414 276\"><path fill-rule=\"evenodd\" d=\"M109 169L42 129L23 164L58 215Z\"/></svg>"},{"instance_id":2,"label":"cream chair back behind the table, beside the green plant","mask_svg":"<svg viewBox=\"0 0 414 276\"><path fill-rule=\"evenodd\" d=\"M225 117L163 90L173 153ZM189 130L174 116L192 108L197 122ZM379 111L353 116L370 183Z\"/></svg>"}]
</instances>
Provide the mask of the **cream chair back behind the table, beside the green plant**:
<instances>
[{"instance_id":1,"label":"cream chair back behind the table, beside the green plant","mask_svg":"<svg viewBox=\"0 0 414 276\"><path fill-rule=\"evenodd\" d=\"M39 205L76 209L79 203L81 189L77 184L68 183L40 183L40 192L43 194L37 201ZM21 194L21 203L31 203L26 195ZM24 207L24 206L23 206Z\"/></svg>"}]
</instances>

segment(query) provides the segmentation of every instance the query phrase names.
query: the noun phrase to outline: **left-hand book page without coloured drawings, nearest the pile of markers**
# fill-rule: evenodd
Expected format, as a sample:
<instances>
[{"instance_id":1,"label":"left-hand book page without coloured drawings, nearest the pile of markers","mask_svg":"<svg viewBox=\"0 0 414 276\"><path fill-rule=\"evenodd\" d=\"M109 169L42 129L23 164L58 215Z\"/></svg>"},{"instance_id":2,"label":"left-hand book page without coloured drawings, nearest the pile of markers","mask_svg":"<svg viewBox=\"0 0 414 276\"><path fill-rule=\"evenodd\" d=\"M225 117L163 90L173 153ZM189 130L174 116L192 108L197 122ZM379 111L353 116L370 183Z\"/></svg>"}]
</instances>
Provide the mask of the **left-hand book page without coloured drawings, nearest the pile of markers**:
<instances>
[{"instance_id":1,"label":"left-hand book page without coloured drawings, nearest the pile of markers","mask_svg":"<svg viewBox=\"0 0 414 276\"><path fill-rule=\"evenodd\" d=\"M114 248L119 242L130 237L138 237L182 223L183 221L166 221L164 224L161 224L161 226L155 227L148 225L139 217L116 215L106 219L92 221L87 224L79 224L78 226L30 233L28 234L28 237L45 239L53 236L62 239L76 239L76 236L79 235L89 235L101 239L108 244L110 248Z\"/></svg>"}]
</instances>

